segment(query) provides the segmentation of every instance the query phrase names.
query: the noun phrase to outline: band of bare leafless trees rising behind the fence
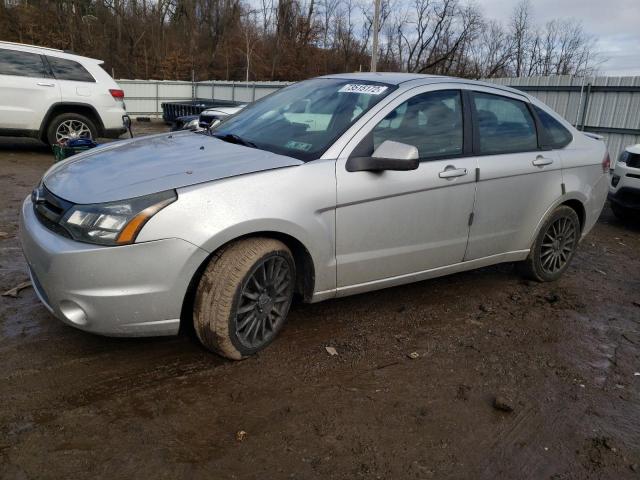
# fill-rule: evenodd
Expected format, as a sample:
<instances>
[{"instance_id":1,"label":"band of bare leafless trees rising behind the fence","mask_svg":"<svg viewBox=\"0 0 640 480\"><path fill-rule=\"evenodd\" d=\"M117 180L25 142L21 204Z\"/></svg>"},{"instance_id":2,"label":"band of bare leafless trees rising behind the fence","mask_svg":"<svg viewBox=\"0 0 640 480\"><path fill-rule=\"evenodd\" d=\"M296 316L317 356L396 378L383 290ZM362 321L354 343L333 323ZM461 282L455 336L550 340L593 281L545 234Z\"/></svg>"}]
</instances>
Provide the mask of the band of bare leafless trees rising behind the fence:
<instances>
[{"instance_id":1,"label":"band of bare leafless trees rising behind the fence","mask_svg":"<svg viewBox=\"0 0 640 480\"><path fill-rule=\"evenodd\" d=\"M573 19L501 25L467 0L382 0L378 69L464 77L584 74L599 58ZM0 39L105 61L121 78L282 79L366 69L370 0L0 2Z\"/></svg>"}]
</instances>

